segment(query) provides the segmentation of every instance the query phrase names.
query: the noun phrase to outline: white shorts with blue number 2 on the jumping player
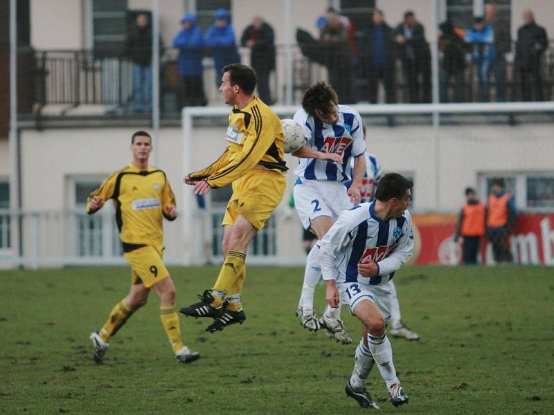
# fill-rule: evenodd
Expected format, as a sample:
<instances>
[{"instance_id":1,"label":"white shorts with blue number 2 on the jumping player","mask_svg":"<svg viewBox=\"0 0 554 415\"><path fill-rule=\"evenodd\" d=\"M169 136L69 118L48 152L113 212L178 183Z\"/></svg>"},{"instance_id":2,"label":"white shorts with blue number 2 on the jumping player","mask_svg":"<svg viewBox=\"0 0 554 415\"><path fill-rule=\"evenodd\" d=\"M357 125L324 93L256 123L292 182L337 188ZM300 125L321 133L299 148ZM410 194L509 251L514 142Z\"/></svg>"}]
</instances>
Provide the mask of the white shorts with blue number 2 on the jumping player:
<instances>
[{"instance_id":1,"label":"white shorts with blue number 2 on the jumping player","mask_svg":"<svg viewBox=\"0 0 554 415\"><path fill-rule=\"evenodd\" d=\"M294 183L294 207L304 229L319 216L330 216L334 221L343 210L352 208L346 186L339 181L305 180Z\"/></svg>"}]
</instances>

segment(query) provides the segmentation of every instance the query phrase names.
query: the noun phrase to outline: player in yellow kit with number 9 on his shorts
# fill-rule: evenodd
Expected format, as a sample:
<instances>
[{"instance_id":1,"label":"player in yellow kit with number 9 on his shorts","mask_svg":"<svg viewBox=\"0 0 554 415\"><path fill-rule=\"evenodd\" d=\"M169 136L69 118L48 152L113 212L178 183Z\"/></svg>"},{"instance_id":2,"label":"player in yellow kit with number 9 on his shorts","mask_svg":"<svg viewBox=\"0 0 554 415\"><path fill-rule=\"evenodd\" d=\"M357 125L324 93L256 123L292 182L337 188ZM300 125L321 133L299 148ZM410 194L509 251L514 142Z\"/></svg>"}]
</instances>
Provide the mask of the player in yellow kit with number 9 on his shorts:
<instances>
[{"instance_id":1,"label":"player in yellow kit with number 9 on his shorts","mask_svg":"<svg viewBox=\"0 0 554 415\"><path fill-rule=\"evenodd\" d=\"M123 252L132 269L131 289L109 313L100 331L91 333L93 358L101 363L108 341L129 320L129 317L146 304L153 289L160 297L160 317L163 328L180 363L199 359L181 340L179 315L175 311L175 286L163 264L163 217L177 218L175 196L166 174L148 165L152 151L152 138L145 131L137 131L131 138L132 163L111 174L102 185L90 194L87 213L100 210L108 199L113 199L116 222Z\"/></svg>"}]
</instances>

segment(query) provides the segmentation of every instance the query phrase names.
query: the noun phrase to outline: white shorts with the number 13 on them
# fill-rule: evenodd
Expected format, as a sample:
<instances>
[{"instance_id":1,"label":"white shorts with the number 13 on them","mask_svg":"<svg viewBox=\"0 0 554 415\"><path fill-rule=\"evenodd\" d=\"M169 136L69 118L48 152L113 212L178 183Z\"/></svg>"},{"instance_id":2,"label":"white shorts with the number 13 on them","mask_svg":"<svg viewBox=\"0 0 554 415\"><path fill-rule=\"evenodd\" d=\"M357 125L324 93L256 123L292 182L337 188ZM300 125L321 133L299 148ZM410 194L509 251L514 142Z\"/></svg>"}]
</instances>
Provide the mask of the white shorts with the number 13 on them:
<instances>
[{"instance_id":1,"label":"white shorts with the number 13 on them","mask_svg":"<svg viewBox=\"0 0 554 415\"><path fill-rule=\"evenodd\" d=\"M391 281L377 285L364 284L363 282L341 282L337 288L341 293L341 301L348 304L350 313L354 315L354 308L362 299L368 299L379 308L385 319L385 324L391 319Z\"/></svg>"}]
</instances>

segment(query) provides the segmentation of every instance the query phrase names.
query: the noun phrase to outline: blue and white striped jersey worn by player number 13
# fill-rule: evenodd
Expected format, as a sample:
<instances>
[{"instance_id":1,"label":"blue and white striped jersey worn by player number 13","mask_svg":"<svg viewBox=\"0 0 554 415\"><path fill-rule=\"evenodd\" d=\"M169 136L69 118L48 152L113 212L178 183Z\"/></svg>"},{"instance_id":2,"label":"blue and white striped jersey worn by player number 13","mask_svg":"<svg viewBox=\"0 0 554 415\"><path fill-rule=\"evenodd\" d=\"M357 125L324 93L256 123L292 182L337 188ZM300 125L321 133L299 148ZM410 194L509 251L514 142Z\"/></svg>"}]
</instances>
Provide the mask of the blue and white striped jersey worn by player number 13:
<instances>
[{"instance_id":1,"label":"blue and white striped jersey worn by player number 13","mask_svg":"<svg viewBox=\"0 0 554 415\"><path fill-rule=\"evenodd\" d=\"M411 215L382 221L373 213L375 203L361 203L345 210L321 239L320 264L323 279L377 285L393 278L413 253ZM377 263L379 274L362 277L362 259Z\"/></svg>"}]
</instances>

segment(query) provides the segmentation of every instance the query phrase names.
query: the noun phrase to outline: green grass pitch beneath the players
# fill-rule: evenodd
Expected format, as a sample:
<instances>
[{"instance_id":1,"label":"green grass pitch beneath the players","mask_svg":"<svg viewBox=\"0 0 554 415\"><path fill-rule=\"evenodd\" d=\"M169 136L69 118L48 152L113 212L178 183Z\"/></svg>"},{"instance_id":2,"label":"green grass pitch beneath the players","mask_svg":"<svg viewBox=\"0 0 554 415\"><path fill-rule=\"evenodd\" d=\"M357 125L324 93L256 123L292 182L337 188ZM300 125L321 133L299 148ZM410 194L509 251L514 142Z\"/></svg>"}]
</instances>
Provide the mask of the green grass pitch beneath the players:
<instances>
[{"instance_id":1,"label":"green grass pitch beneath the players","mask_svg":"<svg viewBox=\"0 0 554 415\"><path fill-rule=\"evenodd\" d=\"M177 304L211 286L216 267L172 268ZM172 358L159 301L111 339L104 365L89 333L127 292L128 268L0 273L0 414L357 414L344 385L355 344L309 333L294 317L301 268L249 267L248 320L222 333L181 319L192 365ZM391 339L410 395L386 401L377 369L370 391L380 413L552 414L552 268L406 267L395 277L404 321L419 342ZM318 289L319 311L323 287ZM359 339L359 323L343 309ZM357 340L355 340L355 343Z\"/></svg>"}]
</instances>

